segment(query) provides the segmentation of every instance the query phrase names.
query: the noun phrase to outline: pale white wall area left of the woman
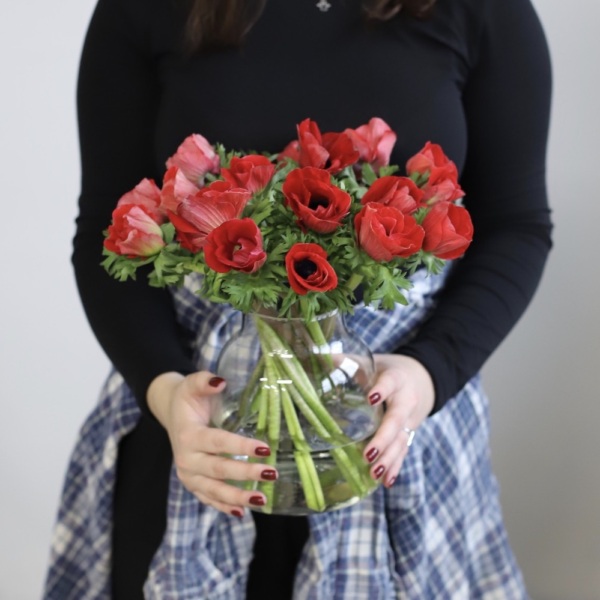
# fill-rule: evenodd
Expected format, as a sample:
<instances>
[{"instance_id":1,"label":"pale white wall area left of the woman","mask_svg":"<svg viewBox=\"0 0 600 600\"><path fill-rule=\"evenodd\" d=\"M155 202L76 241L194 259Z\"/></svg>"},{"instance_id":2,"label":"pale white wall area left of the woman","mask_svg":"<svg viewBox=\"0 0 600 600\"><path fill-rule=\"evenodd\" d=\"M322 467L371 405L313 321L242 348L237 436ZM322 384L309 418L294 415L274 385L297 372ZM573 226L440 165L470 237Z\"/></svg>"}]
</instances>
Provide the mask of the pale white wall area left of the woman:
<instances>
[{"instance_id":1,"label":"pale white wall area left of the woman","mask_svg":"<svg viewBox=\"0 0 600 600\"><path fill-rule=\"evenodd\" d=\"M93 0L0 4L0 599L35 600L69 451L107 362L70 267L75 80Z\"/></svg>"}]
</instances>

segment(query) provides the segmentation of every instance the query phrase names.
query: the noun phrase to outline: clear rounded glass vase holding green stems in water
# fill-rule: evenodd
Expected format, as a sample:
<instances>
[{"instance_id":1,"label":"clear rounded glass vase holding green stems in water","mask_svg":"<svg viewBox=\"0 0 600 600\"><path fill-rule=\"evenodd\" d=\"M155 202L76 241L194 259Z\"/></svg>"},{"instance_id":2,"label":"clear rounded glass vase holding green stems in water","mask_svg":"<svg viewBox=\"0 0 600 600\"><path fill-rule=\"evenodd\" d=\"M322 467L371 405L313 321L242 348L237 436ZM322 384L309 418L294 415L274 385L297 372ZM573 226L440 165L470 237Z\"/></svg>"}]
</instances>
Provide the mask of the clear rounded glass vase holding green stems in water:
<instances>
[{"instance_id":1,"label":"clear rounded glass vase holding green stems in water","mask_svg":"<svg viewBox=\"0 0 600 600\"><path fill-rule=\"evenodd\" d=\"M216 370L227 387L214 425L266 442L267 459L235 458L260 460L279 473L274 482L230 482L265 494L266 505L254 510L323 512L358 502L377 487L362 455L382 417L366 397L373 357L337 312L308 322L244 315Z\"/></svg>"}]
</instances>

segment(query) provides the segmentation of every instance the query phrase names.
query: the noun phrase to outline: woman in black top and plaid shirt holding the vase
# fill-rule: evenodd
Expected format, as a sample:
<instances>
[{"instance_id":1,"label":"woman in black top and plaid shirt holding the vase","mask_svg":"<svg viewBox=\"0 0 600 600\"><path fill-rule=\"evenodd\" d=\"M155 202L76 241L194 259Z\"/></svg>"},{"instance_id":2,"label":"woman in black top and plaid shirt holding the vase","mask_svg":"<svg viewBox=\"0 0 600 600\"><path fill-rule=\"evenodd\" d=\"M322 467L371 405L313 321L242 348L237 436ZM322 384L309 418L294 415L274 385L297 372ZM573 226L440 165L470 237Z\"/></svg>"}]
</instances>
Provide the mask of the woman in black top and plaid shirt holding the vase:
<instances>
[{"instance_id":1,"label":"woman in black top and plaid shirt holding the vase","mask_svg":"<svg viewBox=\"0 0 600 600\"><path fill-rule=\"evenodd\" d=\"M550 248L549 71L529 0L99 0L79 79L73 260L116 372L73 456L46 598L132 600L143 586L161 600L527 597L477 373ZM159 181L192 132L276 152L306 117L342 131L373 116L398 133L392 163L442 145L475 239L445 282L420 282L408 309L366 324L357 311L359 327L385 334L370 399L386 416L365 450L383 485L308 519L250 513L261 494L223 480L273 473L216 454L268 448L207 428L207 398L226 385L211 372L224 309L113 281L98 266L102 231L116 200Z\"/></svg>"}]
</instances>

